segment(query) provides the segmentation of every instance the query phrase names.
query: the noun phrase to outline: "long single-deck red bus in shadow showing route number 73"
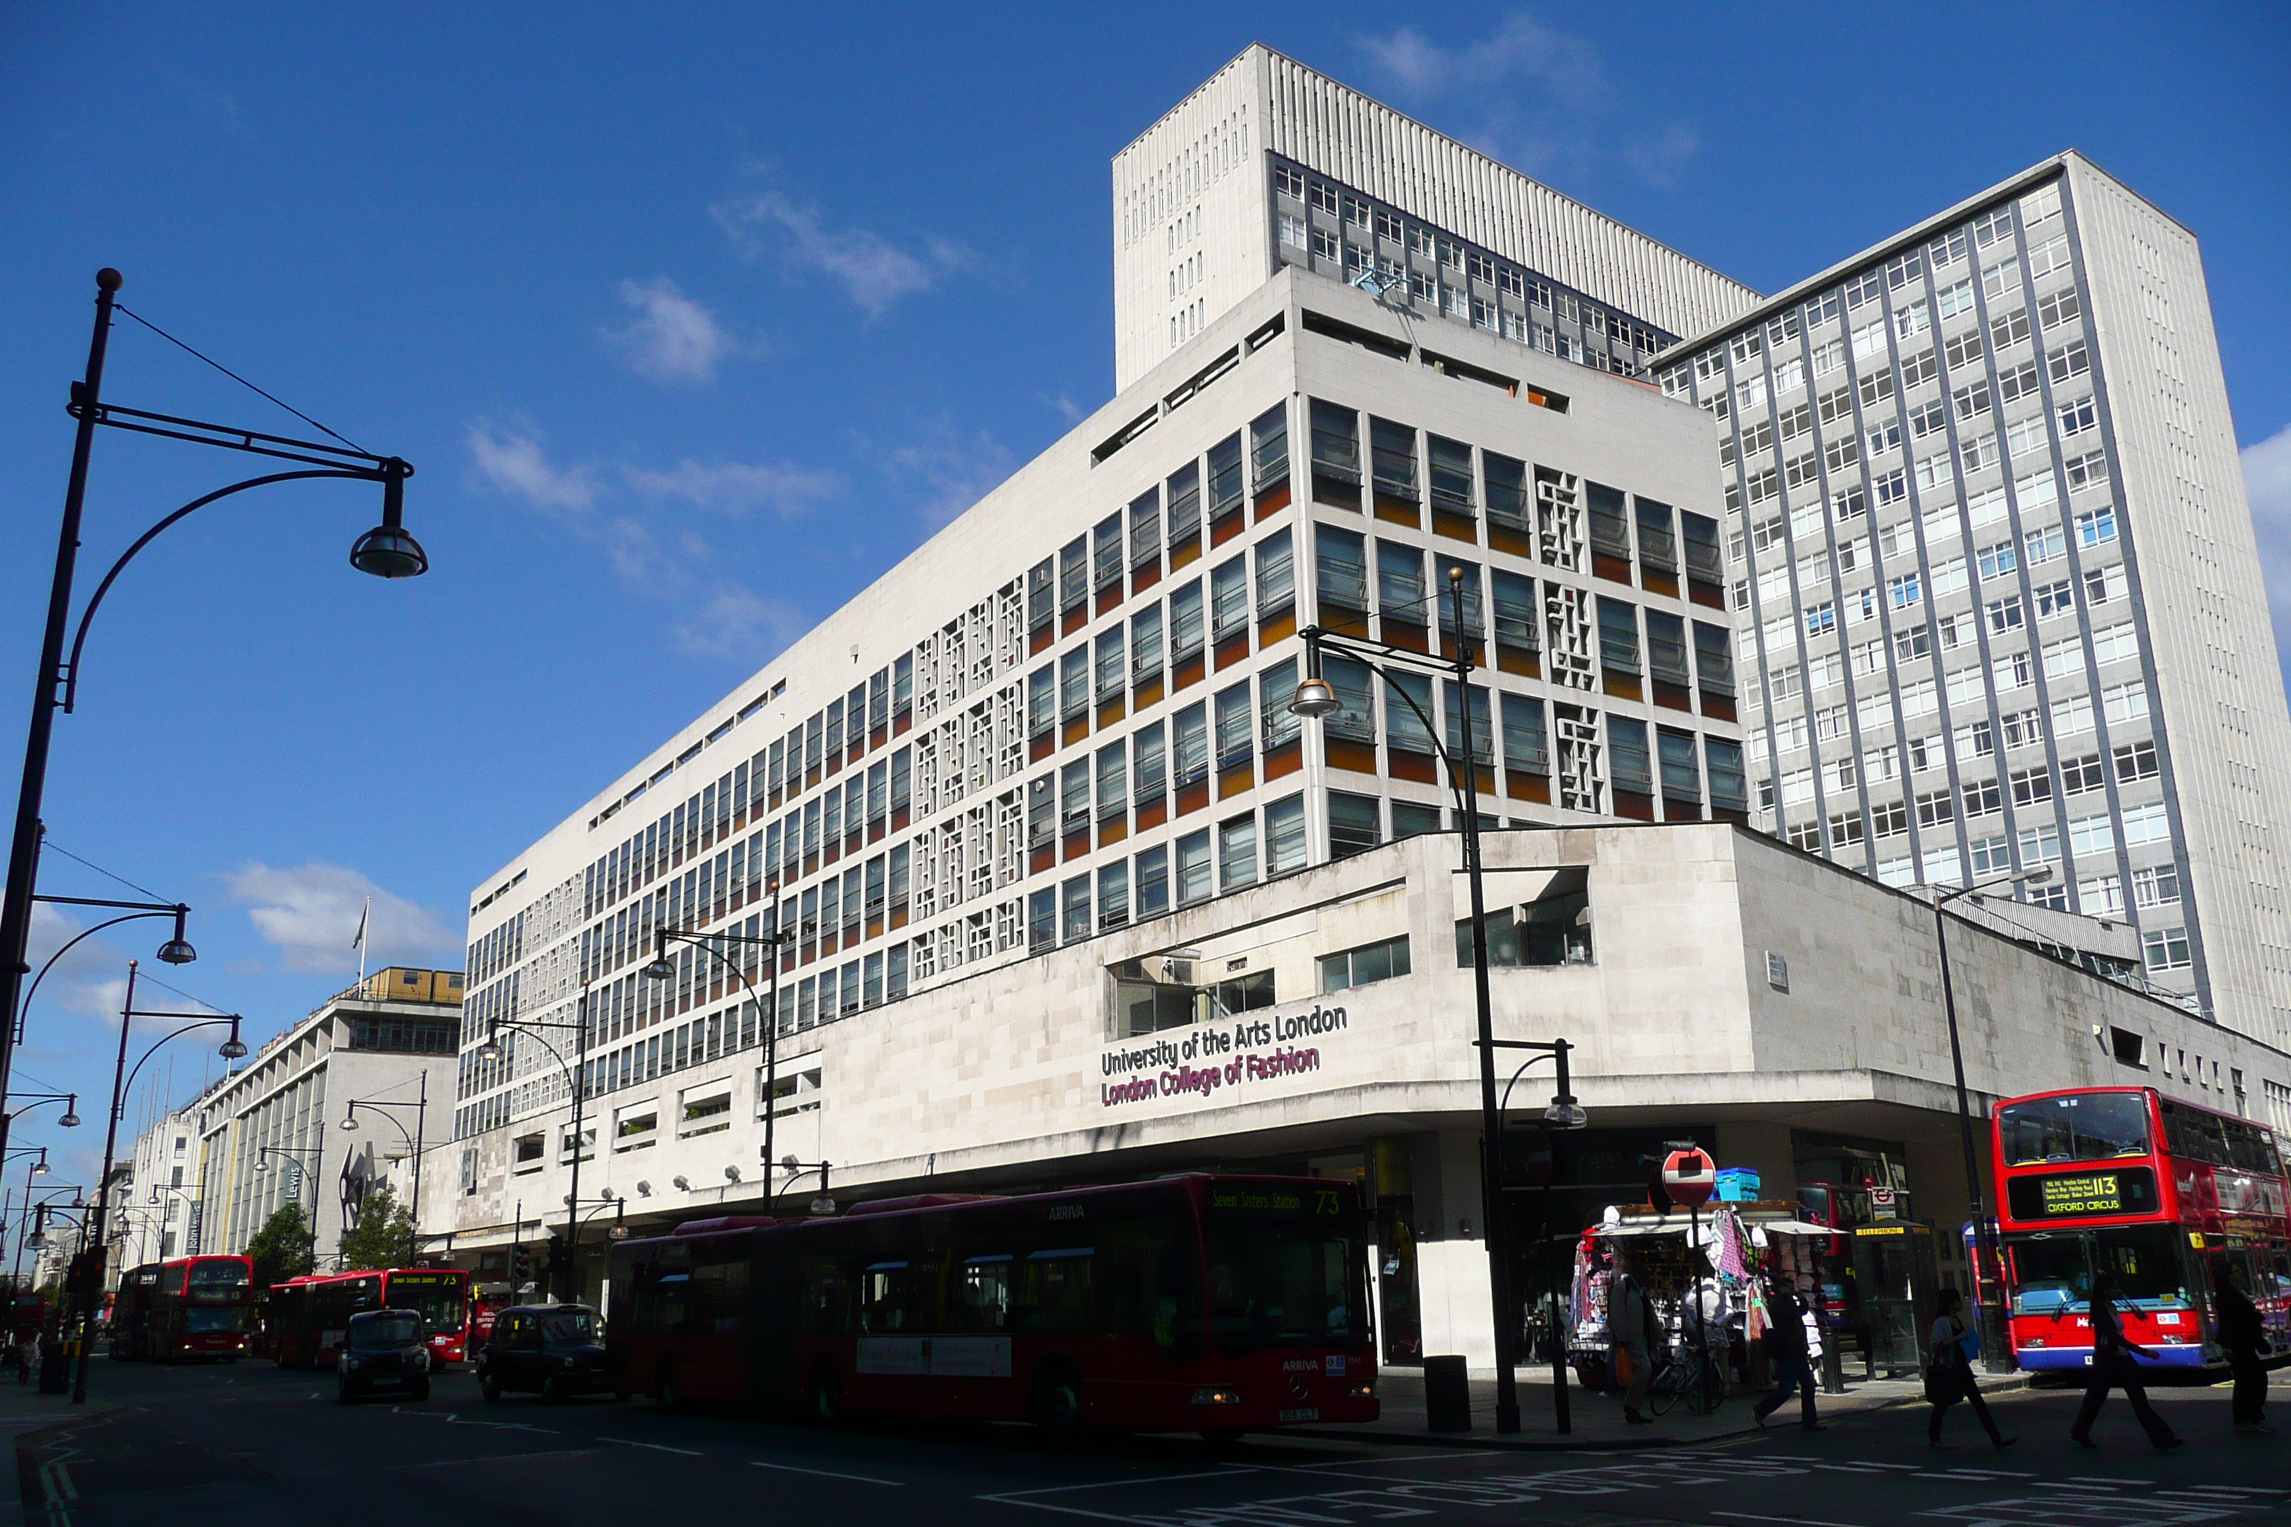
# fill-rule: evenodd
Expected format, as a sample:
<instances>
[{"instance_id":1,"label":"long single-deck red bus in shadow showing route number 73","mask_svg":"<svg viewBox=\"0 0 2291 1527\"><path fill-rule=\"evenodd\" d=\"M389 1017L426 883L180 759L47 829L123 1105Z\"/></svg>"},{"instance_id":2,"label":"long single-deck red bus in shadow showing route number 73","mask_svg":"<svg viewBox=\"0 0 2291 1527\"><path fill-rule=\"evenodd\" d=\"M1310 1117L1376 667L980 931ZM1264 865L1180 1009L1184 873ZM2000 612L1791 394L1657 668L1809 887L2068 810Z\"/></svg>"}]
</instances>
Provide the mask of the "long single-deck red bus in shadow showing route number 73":
<instances>
[{"instance_id":1,"label":"long single-deck red bus in shadow showing route number 73","mask_svg":"<svg viewBox=\"0 0 2291 1527\"><path fill-rule=\"evenodd\" d=\"M616 1245L612 1287L623 1399L1212 1438L1377 1419L1368 1234L1343 1181L699 1220Z\"/></svg>"}]
</instances>

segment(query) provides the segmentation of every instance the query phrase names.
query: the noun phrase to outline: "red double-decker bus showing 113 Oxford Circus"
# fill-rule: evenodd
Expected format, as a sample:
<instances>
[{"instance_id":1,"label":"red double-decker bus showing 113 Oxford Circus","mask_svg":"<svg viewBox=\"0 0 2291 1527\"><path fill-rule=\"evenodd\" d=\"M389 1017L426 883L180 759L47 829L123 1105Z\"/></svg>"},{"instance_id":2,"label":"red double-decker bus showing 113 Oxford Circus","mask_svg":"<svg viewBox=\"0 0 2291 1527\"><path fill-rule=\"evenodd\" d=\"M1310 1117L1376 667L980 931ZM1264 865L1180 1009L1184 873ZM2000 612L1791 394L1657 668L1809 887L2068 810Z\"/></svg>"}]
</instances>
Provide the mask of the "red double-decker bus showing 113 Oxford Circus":
<instances>
[{"instance_id":1,"label":"red double-decker bus showing 113 Oxford Circus","mask_svg":"<svg viewBox=\"0 0 2291 1527\"><path fill-rule=\"evenodd\" d=\"M2142 1364L2225 1362L2213 1271L2229 1266L2270 1342L2291 1337L2291 1181L2275 1133L2154 1087L2039 1092L1998 1103L1998 1229L2023 1369L2092 1362L2092 1275L2117 1280Z\"/></svg>"}]
</instances>

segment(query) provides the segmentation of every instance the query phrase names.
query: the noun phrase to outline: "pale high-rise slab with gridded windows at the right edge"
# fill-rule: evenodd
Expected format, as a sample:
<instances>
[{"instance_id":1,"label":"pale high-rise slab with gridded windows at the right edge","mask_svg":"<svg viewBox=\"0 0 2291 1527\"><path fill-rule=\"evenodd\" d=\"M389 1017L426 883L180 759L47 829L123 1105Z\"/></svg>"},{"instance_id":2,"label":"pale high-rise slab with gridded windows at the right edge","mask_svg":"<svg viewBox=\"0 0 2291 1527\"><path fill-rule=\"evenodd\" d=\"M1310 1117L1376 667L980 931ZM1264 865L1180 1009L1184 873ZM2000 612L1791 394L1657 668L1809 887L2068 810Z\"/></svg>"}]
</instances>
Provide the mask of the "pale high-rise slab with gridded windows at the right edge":
<instances>
[{"instance_id":1,"label":"pale high-rise slab with gridded windows at the right edge","mask_svg":"<svg viewBox=\"0 0 2291 1527\"><path fill-rule=\"evenodd\" d=\"M1725 462L1757 824L1895 886L2053 868L2291 1044L2291 717L2195 236L2064 153L1661 385Z\"/></svg>"}]
</instances>

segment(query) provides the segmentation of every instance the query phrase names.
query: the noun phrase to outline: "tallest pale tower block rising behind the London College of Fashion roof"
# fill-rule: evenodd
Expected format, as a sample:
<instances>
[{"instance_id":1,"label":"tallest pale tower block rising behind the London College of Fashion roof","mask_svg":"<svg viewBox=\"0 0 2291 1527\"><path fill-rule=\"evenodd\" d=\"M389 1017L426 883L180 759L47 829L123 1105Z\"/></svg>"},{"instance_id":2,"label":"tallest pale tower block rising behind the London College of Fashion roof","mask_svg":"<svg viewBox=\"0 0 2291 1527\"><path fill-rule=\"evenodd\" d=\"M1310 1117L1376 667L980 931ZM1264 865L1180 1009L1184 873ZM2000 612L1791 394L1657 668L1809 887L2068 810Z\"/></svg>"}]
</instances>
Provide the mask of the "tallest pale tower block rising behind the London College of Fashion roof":
<instances>
[{"instance_id":1,"label":"tallest pale tower block rising behind the London College of Fashion roof","mask_svg":"<svg viewBox=\"0 0 2291 1527\"><path fill-rule=\"evenodd\" d=\"M1288 266L1377 272L1414 314L1622 375L1757 302L1255 43L1113 156L1113 387L1127 391Z\"/></svg>"}]
</instances>

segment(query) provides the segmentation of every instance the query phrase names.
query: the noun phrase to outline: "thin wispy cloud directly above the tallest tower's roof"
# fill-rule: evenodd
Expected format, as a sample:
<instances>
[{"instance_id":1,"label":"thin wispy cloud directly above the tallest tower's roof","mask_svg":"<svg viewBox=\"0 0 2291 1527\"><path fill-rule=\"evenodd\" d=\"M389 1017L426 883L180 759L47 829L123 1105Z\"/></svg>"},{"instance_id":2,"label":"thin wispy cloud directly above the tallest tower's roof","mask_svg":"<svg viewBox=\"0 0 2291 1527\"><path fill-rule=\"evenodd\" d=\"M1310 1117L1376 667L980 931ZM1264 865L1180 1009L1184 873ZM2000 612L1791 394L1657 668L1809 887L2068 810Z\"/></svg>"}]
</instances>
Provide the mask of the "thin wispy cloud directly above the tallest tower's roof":
<instances>
[{"instance_id":1,"label":"thin wispy cloud directly above the tallest tower's roof","mask_svg":"<svg viewBox=\"0 0 2291 1527\"><path fill-rule=\"evenodd\" d=\"M1620 165L1672 190L1702 142L1693 126L1650 126L1608 85L1599 48L1514 11L1487 37L1446 46L1407 25L1356 41L1370 78L1528 174L1595 174Z\"/></svg>"}]
</instances>

